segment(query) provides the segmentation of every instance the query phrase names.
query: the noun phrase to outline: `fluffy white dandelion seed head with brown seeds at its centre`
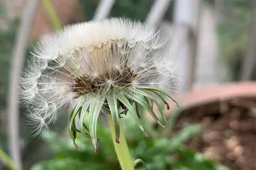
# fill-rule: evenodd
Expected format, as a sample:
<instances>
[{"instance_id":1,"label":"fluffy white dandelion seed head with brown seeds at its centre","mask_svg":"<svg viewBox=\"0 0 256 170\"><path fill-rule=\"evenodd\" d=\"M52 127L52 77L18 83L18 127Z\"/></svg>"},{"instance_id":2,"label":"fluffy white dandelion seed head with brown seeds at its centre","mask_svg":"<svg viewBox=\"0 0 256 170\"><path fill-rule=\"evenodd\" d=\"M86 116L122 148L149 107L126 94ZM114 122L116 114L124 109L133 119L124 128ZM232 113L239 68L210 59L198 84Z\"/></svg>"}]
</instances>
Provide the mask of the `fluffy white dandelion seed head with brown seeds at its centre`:
<instances>
[{"instance_id":1,"label":"fluffy white dandelion seed head with brown seeds at its centre","mask_svg":"<svg viewBox=\"0 0 256 170\"><path fill-rule=\"evenodd\" d=\"M35 122L33 133L47 129L70 102L104 106L102 96L110 89L172 93L174 68L163 62L166 40L154 28L122 18L66 26L44 37L20 79L21 105Z\"/></svg>"}]
</instances>

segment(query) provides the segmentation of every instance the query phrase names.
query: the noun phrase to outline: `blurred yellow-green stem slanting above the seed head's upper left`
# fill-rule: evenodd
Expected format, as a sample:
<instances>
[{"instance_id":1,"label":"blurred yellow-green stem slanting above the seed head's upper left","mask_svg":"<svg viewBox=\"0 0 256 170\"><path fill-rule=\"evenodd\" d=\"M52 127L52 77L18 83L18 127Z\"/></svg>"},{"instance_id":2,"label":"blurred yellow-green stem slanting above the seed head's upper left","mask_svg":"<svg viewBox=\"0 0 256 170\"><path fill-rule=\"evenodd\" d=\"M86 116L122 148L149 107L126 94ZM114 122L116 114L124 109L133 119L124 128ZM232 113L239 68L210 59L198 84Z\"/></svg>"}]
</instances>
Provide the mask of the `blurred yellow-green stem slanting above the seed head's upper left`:
<instances>
[{"instance_id":1,"label":"blurred yellow-green stem slanting above the seed head's upper left","mask_svg":"<svg viewBox=\"0 0 256 170\"><path fill-rule=\"evenodd\" d=\"M49 19L51 20L52 22L52 25L53 27L56 29L56 30L59 30L61 29L61 22L52 6L52 3L49 1L49 0L43 0L43 5L44 5L44 8L46 9L47 11L47 14L49 16Z\"/></svg>"}]
</instances>

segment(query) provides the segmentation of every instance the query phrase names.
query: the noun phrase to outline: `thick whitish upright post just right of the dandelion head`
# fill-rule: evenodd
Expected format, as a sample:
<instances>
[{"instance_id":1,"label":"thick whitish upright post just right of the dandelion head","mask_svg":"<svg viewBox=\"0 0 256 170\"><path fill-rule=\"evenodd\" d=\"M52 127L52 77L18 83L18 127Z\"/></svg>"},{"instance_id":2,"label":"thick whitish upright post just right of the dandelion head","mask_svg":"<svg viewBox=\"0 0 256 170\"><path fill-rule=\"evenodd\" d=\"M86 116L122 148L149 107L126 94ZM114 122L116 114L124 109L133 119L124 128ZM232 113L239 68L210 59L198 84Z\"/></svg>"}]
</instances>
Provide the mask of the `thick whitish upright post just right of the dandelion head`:
<instances>
[{"instance_id":1,"label":"thick whitish upright post just right of the dandelion head","mask_svg":"<svg viewBox=\"0 0 256 170\"><path fill-rule=\"evenodd\" d=\"M195 77L199 11L201 0L176 0L173 56L178 62L177 75L183 81L178 83L179 91L192 88Z\"/></svg>"}]
</instances>

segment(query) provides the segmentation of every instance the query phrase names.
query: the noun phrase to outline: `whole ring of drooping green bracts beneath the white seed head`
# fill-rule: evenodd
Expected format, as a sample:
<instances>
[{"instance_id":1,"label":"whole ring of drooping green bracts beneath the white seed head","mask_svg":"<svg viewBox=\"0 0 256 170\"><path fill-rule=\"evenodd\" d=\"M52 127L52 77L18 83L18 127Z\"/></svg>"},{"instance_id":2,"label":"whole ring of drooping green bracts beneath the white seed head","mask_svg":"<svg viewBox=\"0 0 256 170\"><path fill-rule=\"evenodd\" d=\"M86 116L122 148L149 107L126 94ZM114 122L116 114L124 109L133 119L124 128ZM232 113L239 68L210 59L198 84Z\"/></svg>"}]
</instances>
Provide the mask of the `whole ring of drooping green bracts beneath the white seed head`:
<instances>
[{"instance_id":1,"label":"whole ring of drooping green bracts beneath the white seed head","mask_svg":"<svg viewBox=\"0 0 256 170\"><path fill-rule=\"evenodd\" d=\"M104 94L93 93L80 96L78 98L79 101L77 102L76 107L73 109L70 115L69 132L75 146L78 147L76 145L75 139L76 133L79 132L84 137L90 138L92 140L95 152L98 152L97 140L99 139L97 139L96 137L96 125L100 112L105 114L111 114L114 123L117 143L119 143L120 135L119 118L122 117L122 114L131 114L143 134L145 136L148 136L140 122L140 113L137 111L137 109L133 108L133 104L143 106L160 126L166 127L160 122L159 118L154 113L152 108L153 105L150 105L148 102L149 100L151 100L157 105L157 108L160 111L163 119L165 120L165 123L168 124L163 114L163 110L160 107L160 104L150 94L151 92L154 92L158 95L165 95L172 99L171 96L169 96L168 94L163 94L163 92L160 92L156 88L141 88L140 90L135 91L131 91L131 89L129 88L114 88L108 90ZM163 99L163 102L166 103L167 108L169 108L169 105L164 100L163 96L161 96L160 99ZM175 101L174 99L172 100ZM86 113L89 113L89 128L84 123L84 115ZM78 130L75 125L75 117L77 114L80 118L80 130Z\"/></svg>"}]
</instances>

